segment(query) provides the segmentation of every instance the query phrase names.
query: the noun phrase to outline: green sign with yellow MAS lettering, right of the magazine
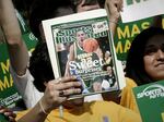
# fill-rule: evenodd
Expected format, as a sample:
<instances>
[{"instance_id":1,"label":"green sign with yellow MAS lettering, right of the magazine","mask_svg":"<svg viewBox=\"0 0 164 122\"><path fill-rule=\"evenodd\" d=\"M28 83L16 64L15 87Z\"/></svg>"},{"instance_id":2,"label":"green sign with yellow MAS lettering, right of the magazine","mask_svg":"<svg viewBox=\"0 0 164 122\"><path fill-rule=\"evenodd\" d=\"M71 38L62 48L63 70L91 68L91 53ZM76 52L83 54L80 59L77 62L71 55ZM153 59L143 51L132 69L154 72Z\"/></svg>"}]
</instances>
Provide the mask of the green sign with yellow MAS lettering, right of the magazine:
<instances>
[{"instance_id":1,"label":"green sign with yellow MAS lettering, right of the magazine","mask_svg":"<svg viewBox=\"0 0 164 122\"><path fill-rule=\"evenodd\" d=\"M152 25L153 17L144 19L141 21L122 23L118 22L118 27L115 33L115 48L117 52L118 60L122 61L122 64L126 65L126 58L128 50L131 46L133 38L140 34L143 29ZM164 27L164 16L162 21Z\"/></svg>"}]
</instances>

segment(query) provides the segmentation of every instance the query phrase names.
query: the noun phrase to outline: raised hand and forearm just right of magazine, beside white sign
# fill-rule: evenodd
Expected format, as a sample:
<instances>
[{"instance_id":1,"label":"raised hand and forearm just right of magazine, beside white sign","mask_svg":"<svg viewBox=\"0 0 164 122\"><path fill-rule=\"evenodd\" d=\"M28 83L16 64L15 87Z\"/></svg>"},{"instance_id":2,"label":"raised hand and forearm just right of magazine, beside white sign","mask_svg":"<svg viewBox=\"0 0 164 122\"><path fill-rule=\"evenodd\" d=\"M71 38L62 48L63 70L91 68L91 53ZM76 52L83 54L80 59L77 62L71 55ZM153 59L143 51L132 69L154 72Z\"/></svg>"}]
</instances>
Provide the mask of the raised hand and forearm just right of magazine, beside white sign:
<instances>
[{"instance_id":1,"label":"raised hand and forearm just right of magazine, beside white sign","mask_svg":"<svg viewBox=\"0 0 164 122\"><path fill-rule=\"evenodd\" d=\"M109 27L114 36L120 17L119 12L122 10L122 0L106 0L105 9L109 17Z\"/></svg>"}]
</instances>

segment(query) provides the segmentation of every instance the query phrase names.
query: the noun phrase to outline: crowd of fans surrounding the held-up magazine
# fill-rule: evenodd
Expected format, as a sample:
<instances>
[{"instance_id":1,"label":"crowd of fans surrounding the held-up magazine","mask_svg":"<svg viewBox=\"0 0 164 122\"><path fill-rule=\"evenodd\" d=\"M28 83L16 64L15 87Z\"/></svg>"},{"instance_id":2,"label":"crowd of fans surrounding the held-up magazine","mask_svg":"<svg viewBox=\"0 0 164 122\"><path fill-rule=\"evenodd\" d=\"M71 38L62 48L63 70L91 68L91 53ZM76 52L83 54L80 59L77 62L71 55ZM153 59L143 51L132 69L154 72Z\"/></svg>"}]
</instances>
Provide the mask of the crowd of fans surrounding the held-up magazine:
<instances>
[{"instance_id":1,"label":"crowd of fans surrounding the held-up magazine","mask_svg":"<svg viewBox=\"0 0 164 122\"><path fill-rule=\"evenodd\" d=\"M75 0L34 0L31 2L28 25L39 41L32 57L30 57L22 38L12 0L0 0L0 25L8 46L10 71L14 85L26 106L25 111L16 111L16 114L5 107L0 107L0 113L5 115L9 121L142 121L132 88L164 80L164 29L149 27L132 40L127 58L126 87L121 90L117 100L110 100L108 93L102 94L104 100L98 101L84 102L83 97L67 100L70 95L82 93L82 84L77 82L78 77L73 75L66 74L60 78L54 76L42 21L99 9L104 4L104 8L108 8L110 14L109 25L114 35L120 17L119 12L122 10L122 0L106 0L101 4L99 0L94 4L84 3L85 0L79 0L79 2L75 2ZM106 52L106 54L110 53ZM61 60L62 58L61 56ZM109 66L106 69L112 71ZM106 78L108 80L109 76ZM61 106L63 107L63 114L59 114Z\"/></svg>"}]
</instances>

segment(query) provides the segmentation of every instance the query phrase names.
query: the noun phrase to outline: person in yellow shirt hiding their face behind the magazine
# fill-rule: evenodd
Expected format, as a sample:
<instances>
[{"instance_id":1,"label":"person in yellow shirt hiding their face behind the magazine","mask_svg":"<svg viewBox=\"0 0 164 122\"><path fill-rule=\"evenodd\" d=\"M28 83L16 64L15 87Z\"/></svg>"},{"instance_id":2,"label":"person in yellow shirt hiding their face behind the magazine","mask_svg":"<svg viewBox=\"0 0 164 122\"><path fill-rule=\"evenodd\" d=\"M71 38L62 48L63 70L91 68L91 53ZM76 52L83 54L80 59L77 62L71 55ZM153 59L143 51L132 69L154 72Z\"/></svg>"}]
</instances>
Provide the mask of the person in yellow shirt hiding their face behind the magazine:
<instances>
[{"instance_id":1,"label":"person in yellow shirt hiding their face behind the magazine","mask_svg":"<svg viewBox=\"0 0 164 122\"><path fill-rule=\"evenodd\" d=\"M39 56L39 57L36 57ZM40 70L40 65L44 71ZM75 78L61 77L54 80L46 44L39 44L32 53L30 71L34 76L34 85L44 93L34 108L26 112L17 112L17 122L140 122L140 114L113 101L83 102L83 98L68 101L72 94L80 94L81 84ZM50 82L49 82L50 81ZM75 84L77 83L77 84ZM69 87L70 86L70 87ZM74 86L75 88L72 88ZM39 88L38 88L39 87ZM65 88L63 88L65 87ZM59 115L58 107L63 106L63 115ZM33 114L33 115L32 115Z\"/></svg>"}]
</instances>

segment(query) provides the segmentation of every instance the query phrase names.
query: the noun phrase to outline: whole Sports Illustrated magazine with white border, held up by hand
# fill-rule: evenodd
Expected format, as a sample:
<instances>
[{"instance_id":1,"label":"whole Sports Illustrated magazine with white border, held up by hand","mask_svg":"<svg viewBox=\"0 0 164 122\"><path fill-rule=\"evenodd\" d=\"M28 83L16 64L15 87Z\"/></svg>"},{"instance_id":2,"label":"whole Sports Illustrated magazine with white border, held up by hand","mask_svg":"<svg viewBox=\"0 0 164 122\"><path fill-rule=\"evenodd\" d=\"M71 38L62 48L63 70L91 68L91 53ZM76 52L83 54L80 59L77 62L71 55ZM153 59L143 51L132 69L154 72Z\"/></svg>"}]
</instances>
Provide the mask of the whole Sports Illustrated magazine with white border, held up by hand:
<instances>
[{"instance_id":1,"label":"whole Sports Illustrated magazine with white border, held up by hand","mask_svg":"<svg viewBox=\"0 0 164 122\"><path fill-rule=\"evenodd\" d=\"M55 77L77 75L82 95L120 91L125 86L104 9L43 21Z\"/></svg>"}]
</instances>

